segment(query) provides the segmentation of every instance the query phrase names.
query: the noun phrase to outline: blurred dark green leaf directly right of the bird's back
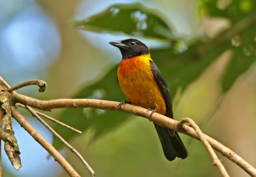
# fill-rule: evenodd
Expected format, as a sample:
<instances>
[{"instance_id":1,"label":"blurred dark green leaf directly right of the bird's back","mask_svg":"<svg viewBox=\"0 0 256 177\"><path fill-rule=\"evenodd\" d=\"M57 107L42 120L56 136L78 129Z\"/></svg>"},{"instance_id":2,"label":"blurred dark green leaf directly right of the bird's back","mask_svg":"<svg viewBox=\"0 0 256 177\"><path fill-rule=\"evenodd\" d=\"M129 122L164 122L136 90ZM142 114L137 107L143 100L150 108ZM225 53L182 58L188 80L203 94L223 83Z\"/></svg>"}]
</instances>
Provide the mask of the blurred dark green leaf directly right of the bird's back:
<instances>
[{"instance_id":1,"label":"blurred dark green leaf directly right of the bird's back","mask_svg":"<svg viewBox=\"0 0 256 177\"><path fill-rule=\"evenodd\" d=\"M218 47L212 47L212 42L198 41L184 53L175 53L172 47L151 50L152 58L161 70L172 96L178 88L183 90L195 81L230 46L230 42L225 41Z\"/></svg>"}]
</instances>

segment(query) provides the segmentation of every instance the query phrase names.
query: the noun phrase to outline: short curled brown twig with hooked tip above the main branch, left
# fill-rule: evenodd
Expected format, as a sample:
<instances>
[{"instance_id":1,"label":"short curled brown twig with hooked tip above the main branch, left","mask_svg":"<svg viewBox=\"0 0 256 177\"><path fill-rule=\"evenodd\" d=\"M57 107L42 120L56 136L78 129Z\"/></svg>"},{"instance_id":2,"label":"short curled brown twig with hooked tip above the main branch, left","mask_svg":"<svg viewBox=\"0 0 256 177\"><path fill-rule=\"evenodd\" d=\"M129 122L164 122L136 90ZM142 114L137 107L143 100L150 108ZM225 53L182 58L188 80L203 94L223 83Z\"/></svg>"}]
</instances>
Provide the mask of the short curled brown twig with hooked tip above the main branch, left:
<instances>
[{"instance_id":1,"label":"short curled brown twig with hooked tip above the main branch, left","mask_svg":"<svg viewBox=\"0 0 256 177\"><path fill-rule=\"evenodd\" d=\"M19 83L17 85L14 85L13 87L7 88L6 91L7 92L12 92L13 90L17 90L21 87L25 87L25 86L28 86L28 85L37 85L38 89L39 89L39 92L44 92L45 87L46 87L46 82L43 81L43 80L27 80L27 81L24 81L24 82Z\"/></svg>"}]
</instances>

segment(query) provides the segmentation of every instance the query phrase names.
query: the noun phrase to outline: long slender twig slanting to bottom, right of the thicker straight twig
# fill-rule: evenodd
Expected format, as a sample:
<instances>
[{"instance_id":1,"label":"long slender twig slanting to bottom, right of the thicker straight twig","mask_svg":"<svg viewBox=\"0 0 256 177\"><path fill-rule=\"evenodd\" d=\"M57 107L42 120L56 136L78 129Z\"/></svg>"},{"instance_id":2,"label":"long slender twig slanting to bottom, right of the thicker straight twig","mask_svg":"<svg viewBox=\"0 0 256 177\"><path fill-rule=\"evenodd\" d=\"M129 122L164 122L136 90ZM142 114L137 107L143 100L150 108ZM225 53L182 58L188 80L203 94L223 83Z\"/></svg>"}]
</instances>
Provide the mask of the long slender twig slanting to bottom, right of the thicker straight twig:
<instances>
[{"instance_id":1,"label":"long slender twig slanting to bottom, right of the thicker straight twig","mask_svg":"<svg viewBox=\"0 0 256 177\"><path fill-rule=\"evenodd\" d=\"M86 160L84 160L83 156L76 150L76 148L71 146L67 141L65 141L65 139L60 136L60 134L54 131L54 129L52 129L50 125L48 125L40 116L37 115L35 110L31 109L29 106L26 106L26 108L31 112L34 117L36 117L42 124L44 124L45 127L47 127L47 129L52 132L52 134L59 138L60 141L63 142L71 150L71 152L74 152L77 157L83 162L84 166L87 167L88 171L92 174L92 176L95 176L95 172L93 171L92 167L86 162Z\"/></svg>"}]
</instances>

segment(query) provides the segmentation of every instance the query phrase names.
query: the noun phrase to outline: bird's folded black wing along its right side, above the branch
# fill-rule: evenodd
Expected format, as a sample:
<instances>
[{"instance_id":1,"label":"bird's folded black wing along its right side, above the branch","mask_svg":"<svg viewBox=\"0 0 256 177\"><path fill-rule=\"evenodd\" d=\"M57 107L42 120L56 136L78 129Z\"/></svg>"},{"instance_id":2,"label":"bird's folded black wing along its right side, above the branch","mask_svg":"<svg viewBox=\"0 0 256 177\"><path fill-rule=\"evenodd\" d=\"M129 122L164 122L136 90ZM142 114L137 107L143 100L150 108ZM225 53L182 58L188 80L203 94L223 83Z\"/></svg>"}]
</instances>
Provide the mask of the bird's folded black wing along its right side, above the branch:
<instances>
[{"instance_id":1,"label":"bird's folded black wing along its right side, above the branch","mask_svg":"<svg viewBox=\"0 0 256 177\"><path fill-rule=\"evenodd\" d=\"M156 80L156 83L161 90L161 93L164 97L164 101L166 104L166 116L173 118L173 111L172 111L172 99L170 96L169 89L167 87L166 81L164 80L162 74L160 73L159 69L157 68L156 64L150 60L150 67L151 71L154 75L154 78Z\"/></svg>"}]
</instances>

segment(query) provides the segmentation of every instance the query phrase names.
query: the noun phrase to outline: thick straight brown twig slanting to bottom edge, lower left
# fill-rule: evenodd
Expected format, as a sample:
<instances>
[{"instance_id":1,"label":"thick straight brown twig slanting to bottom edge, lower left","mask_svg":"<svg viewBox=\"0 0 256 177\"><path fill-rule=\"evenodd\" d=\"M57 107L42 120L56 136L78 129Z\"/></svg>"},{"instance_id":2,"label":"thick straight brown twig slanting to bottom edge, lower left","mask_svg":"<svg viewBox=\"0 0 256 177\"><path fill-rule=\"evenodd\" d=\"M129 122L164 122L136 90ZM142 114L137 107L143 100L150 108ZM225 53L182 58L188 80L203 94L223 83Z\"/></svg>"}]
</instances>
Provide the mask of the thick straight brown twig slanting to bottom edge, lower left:
<instances>
[{"instance_id":1,"label":"thick straight brown twig slanting to bottom edge, lower left","mask_svg":"<svg viewBox=\"0 0 256 177\"><path fill-rule=\"evenodd\" d=\"M29 124L26 118L17 111L14 106L11 106L12 116L19 122L19 124L40 144L42 145L47 152L49 152L52 157L67 171L70 176L80 177L80 175L76 172L76 170L67 162L67 160L61 155L58 150L54 148L36 129Z\"/></svg>"}]
</instances>

